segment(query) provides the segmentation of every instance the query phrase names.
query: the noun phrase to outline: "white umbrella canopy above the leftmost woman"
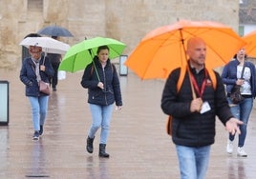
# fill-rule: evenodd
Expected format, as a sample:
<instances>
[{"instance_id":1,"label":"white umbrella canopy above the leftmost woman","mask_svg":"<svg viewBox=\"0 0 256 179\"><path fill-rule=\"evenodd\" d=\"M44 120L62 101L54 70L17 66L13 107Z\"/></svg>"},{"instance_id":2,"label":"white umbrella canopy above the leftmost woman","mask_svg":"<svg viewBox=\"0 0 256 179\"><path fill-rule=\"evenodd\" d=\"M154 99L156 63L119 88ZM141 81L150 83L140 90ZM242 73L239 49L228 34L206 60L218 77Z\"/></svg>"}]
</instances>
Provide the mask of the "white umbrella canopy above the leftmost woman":
<instances>
[{"instance_id":1,"label":"white umbrella canopy above the leftmost woman","mask_svg":"<svg viewBox=\"0 0 256 179\"><path fill-rule=\"evenodd\" d=\"M70 49L68 44L54 40L50 37L26 37L19 45L29 48L30 46L41 47L46 53L64 54Z\"/></svg>"}]
</instances>

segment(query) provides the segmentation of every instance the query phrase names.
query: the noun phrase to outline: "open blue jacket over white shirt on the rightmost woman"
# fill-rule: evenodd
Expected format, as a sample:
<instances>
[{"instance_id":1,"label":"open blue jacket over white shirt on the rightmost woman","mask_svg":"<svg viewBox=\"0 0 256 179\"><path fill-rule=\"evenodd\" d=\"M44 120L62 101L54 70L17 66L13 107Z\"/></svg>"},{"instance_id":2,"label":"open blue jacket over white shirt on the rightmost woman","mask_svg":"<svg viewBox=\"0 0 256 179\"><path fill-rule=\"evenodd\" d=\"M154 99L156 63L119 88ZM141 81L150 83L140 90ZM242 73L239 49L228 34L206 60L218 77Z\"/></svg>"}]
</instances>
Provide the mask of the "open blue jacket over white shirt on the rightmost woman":
<instances>
[{"instance_id":1,"label":"open blue jacket over white shirt on the rightmost woman","mask_svg":"<svg viewBox=\"0 0 256 179\"><path fill-rule=\"evenodd\" d=\"M224 66L224 70L222 73L223 82L226 85L226 93L230 93L233 86L236 84L237 81L237 66L239 65L239 61L234 59L230 61L228 64ZM251 77L250 77L250 87L252 97L255 98L256 96L256 70L255 66L248 61L245 61L245 67L250 69Z\"/></svg>"}]
</instances>

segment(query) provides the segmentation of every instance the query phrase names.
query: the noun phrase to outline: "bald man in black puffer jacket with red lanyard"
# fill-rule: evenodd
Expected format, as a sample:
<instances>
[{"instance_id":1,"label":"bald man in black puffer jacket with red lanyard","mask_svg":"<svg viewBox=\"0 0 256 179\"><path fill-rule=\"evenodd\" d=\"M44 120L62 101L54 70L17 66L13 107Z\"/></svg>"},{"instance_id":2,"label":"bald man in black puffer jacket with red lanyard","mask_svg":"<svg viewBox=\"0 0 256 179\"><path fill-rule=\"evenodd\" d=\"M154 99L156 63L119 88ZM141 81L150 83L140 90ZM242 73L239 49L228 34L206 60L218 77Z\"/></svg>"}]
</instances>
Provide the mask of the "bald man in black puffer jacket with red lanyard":
<instances>
[{"instance_id":1,"label":"bald man in black puffer jacket with red lanyard","mask_svg":"<svg viewBox=\"0 0 256 179\"><path fill-rule=\"evenodd\" d=\"M238 125L243 123L233 117L225 98L224 84L215 71L214 89L204 66L206 45L203 39L189 39L186 54L189 57L188 68L181 89L177 90L179 68L167 78L161 96L161 109L173 117L172 140L178 153L181 179L204 179L210 147L214 144L216 115L232 134L240 133ZM196 98L192 97L192 87Z\"/></svg>"}]
</instances>

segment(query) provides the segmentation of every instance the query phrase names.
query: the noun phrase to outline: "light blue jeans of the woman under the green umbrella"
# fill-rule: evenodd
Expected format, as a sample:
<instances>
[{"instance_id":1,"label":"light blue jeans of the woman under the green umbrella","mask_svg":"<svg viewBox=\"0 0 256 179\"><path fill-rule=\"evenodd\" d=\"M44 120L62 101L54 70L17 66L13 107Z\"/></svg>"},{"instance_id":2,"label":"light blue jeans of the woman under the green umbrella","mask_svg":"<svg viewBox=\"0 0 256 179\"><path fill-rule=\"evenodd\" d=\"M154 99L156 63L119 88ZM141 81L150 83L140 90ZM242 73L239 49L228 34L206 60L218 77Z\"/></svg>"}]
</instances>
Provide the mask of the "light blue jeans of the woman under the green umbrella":
<instances>
[{"instance_id":1,"label":"light blue jeans of the woman under the green umbrella","mask_svg":"<svg viewBox=\"0 0 256 179\"><path fill-rule=\"evenodd\" d=\"M93 117L93 123L89 130L88 136L90 138L94 138L97 129L101 127L100 144L107 144L113 105L100 106L90 104L90 109Z\"/></svg>"}]
</instances>

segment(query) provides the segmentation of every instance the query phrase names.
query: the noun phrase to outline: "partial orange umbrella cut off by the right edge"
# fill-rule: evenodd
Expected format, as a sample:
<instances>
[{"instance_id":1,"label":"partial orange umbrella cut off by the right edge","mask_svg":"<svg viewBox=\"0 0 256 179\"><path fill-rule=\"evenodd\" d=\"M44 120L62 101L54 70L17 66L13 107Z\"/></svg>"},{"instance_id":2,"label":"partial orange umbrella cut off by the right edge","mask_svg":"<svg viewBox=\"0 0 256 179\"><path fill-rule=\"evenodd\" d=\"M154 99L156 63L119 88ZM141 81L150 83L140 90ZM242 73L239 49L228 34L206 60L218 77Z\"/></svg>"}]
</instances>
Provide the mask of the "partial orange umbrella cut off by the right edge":
<instances>
[{"instance_id":1,"label":"partial orange umbrella cut off by the right edge","mask_svg":"<svg viewBox=\"0 0 256 179\"><path fill-rule=\"evenodd\" d=\"M247 43L245 45L246 54L256 57L256 30L246 34L243 39Z\"/></svg>"}]
</instances>

